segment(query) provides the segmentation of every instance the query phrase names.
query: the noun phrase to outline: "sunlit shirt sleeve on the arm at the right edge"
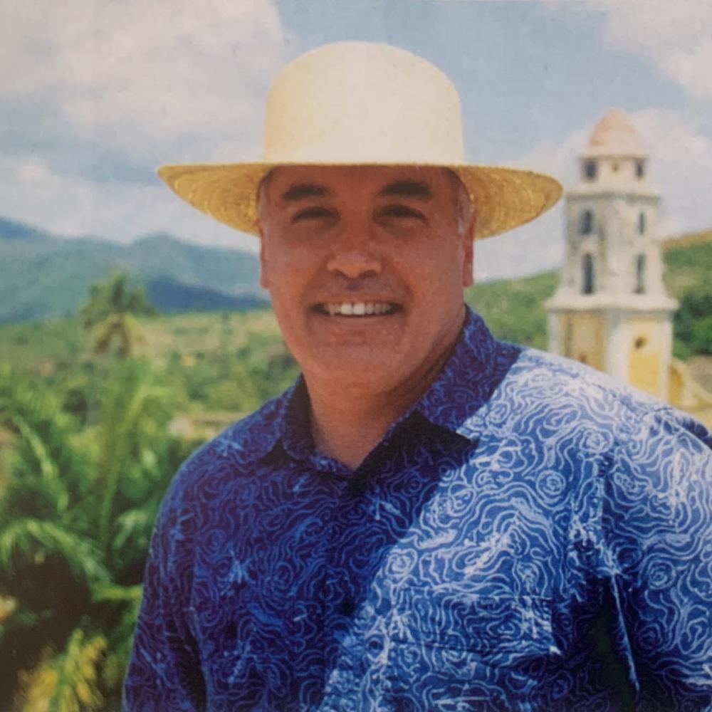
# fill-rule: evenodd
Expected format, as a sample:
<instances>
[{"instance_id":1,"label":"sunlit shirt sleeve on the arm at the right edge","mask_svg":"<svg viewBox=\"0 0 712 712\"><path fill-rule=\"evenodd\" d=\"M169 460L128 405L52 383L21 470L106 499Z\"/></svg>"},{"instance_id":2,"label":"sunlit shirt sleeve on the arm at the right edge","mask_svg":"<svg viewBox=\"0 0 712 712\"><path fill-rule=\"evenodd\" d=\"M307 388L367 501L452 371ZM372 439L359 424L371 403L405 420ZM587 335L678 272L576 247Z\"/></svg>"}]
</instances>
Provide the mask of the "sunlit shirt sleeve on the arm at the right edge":
<instances>
[{"instance_id":1,"label":"sunlit shirt sleeve on the arm at the right edge","mask_svg":"<svg viewBox=\"0 0 712 712\"><path fill-rule=\"evenodd\" d=\"M640 710L712 710L712 438L671 408L627 425L604 498Z\"/></svg>"}]
</instances>

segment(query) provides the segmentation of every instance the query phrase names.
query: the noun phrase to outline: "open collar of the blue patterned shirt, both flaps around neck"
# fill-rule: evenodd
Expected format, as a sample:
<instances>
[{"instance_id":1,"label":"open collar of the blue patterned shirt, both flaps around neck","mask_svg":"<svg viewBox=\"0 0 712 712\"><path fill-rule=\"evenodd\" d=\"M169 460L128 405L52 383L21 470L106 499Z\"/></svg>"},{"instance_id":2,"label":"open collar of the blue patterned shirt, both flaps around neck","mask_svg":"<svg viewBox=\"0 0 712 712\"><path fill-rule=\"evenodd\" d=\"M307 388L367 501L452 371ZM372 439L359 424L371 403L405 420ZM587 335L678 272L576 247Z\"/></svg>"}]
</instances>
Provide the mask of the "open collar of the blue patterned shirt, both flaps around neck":
<instances>
[{"instance_id":1,"label":"open collar of the blue patterned shirt, both flaps around neck","mask_svg":"<svg viewBox=\"0 0 712 712\"><path fill-rule=\"evenodd\" d=\"M461 333L446 365L399 421L418 412L437 426L476 439L480 427L474 416L492 397L520 352L521 347L496 340L483 319L466 307ZM241 434L240 430L244 432ZM309 394L303 376L280 397L233 426L230 435L231 439L242 435L246 444L251 443L255 460L266 456L278 444L295 459L312 456ZM247 454L246 447L240 449Z\"/></svg>"}]
</instances>

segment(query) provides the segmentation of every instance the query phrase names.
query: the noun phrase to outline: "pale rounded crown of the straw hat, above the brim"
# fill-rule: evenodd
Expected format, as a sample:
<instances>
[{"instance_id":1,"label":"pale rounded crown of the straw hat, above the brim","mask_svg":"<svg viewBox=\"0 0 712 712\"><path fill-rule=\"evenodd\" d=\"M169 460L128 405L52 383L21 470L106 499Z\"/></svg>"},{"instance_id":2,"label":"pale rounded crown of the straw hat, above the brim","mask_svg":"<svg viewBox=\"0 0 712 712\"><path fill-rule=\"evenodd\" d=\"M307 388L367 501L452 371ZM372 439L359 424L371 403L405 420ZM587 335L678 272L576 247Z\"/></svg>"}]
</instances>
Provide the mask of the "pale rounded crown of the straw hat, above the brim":
<instances>
[{"instance_id":1,"label":"pale rounded crown of the straw hat, above the brim","mask_svg":"<svg viewBox=\"0 0 712 712\"><path fill-rule=\"evenodd\" d=\"M400 48L337 42L303 54L272 83L270 163L461 164L460 101L449 78Z\"/></svg>"}]
</instances>

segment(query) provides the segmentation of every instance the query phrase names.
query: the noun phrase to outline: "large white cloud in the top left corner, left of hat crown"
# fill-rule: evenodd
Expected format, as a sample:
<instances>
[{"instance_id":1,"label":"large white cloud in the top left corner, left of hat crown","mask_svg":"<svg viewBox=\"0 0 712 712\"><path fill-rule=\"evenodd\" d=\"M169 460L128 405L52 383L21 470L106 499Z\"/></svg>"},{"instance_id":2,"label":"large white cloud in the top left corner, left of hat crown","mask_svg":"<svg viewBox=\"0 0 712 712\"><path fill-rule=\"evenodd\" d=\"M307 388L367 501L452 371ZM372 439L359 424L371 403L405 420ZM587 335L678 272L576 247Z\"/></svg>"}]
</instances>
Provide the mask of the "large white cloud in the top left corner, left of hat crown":
<instances>
[{"instance_id":1,"label":"large white cloud in the top left corner, left of hat crown","mask_svg":"<svg viewBox=\"0 0 712 712\"><path fill-rule=\"evenodd\" d=\"M256 153L283 59L270 0L25 0L0 26L0 96L55 106L75 137L142 162Z\"/></svg>"}]
</instances>

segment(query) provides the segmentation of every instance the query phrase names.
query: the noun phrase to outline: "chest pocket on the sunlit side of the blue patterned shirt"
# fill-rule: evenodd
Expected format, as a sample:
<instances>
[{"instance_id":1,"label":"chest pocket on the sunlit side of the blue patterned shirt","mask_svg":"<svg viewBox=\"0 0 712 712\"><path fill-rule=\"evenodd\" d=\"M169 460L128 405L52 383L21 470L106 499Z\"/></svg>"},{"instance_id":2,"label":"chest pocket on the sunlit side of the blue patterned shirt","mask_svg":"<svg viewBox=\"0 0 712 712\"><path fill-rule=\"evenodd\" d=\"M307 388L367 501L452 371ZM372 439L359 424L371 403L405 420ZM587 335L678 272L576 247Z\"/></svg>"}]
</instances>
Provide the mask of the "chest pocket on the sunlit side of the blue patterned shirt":
<instances>
[{"instance_id":1,"label":"chest pocket on the sunlit side of the blue patterned shirt","mask_svg":"<svg viewBox=\"0 0 712 712\"><path fill-rule=\"evenodd\" d=\"M391 602L379 675L396 708L530 709L560 655L545 598L413 587Z\"/></svg>"}]
</instances>

